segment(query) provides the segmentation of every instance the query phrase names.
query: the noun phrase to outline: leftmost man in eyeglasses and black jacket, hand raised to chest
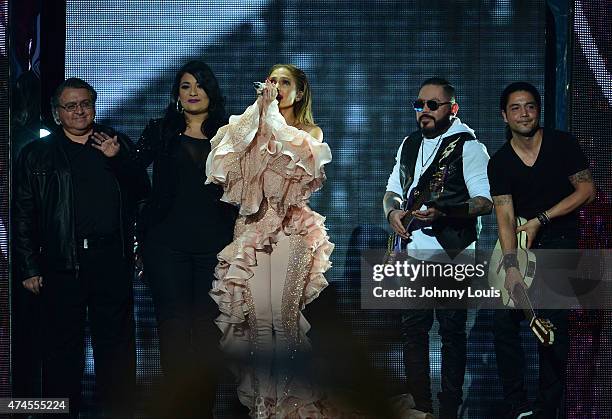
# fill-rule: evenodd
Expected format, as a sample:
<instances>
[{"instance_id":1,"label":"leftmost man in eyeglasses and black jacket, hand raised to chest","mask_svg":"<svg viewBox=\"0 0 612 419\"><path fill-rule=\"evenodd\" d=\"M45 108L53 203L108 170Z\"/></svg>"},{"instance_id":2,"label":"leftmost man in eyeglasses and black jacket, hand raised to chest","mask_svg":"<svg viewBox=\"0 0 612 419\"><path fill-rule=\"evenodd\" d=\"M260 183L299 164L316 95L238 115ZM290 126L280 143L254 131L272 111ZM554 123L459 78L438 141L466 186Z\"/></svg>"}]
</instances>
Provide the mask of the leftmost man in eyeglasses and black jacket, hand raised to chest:
<instances>
[{"instance_id":1,"label":"leftmost man in eyeglasses and black jacket, hand raised to chest","mask_svg":"<svg viewBox=\"0 0 612 419\"><path fill-rule=\"evenodd\" d=\"M15 168L14 266L41 299L42 396L78 417L86 319L103 417L131 417L135 390L133 225L149 179L128 137L94 123L97 93L70 78L51 98L53 134ZM105 416L106 415L106 416Z\"/></svg>"}]
</instances>

